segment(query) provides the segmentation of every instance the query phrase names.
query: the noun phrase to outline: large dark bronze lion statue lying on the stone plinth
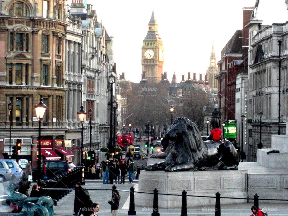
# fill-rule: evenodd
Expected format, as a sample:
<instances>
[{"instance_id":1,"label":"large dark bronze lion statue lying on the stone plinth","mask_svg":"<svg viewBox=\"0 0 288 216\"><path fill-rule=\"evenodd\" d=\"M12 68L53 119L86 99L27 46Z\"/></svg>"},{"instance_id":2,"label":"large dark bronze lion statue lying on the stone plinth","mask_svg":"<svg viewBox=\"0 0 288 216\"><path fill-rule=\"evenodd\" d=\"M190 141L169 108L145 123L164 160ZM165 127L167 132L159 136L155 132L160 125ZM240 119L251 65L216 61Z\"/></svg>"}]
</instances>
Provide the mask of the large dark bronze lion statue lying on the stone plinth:
<instances>
[{"instance_id":1,"label":"large dark bronze lion statue lying on the stone plinth","mask_svg":"<svg viewBox=\"0 0 288 216\"><path fill-rule=\"evenodd\" d=\"M202 141L197 125L185 117L175 119L162 140L165 152L152 158L166 158L146 170L198 171L237 170L238 153L230 141Z\"/></svg>"}]
</instances>

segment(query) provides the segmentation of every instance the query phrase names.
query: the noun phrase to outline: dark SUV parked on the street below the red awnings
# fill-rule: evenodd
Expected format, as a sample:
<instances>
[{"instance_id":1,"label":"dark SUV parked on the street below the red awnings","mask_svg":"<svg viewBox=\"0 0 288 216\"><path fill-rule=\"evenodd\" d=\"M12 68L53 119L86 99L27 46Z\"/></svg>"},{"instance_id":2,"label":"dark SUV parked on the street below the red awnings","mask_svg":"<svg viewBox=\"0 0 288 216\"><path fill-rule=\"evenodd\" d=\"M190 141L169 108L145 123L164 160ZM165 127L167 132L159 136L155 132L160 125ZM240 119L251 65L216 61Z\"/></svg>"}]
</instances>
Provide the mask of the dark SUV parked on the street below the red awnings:
<instances>
[{"instance_id":1,"label":"dark SUV parked on the street below the red awnings","mask_svg":"<svg viewBox=\"0 0 288 216\"><path fill-rule=\"evenodd\" d=\"M46 176L48 179L52 179L57 175L61 175L62 173L65 173L64 167L65 167L66 161L46 161ZM72 170L76 166L73 164L72 161L68 162L69 169ZM68 171L69 171L68 169ZM43 174L43 168L41 165L41 173ZM32 176L33 176L33 181L35 181L38 176L38 168L33 168L32 169Z\"/></svg>"}]
</instances>

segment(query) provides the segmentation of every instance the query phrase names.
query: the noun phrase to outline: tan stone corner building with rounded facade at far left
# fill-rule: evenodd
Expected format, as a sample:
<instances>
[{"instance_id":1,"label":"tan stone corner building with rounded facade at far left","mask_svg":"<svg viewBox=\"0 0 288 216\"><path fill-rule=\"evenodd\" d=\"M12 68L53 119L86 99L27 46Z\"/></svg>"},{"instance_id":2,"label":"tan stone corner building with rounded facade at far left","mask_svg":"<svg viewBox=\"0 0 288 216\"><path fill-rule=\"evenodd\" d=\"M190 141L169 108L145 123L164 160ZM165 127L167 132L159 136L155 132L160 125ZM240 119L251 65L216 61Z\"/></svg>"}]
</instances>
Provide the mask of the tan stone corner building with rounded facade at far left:
<instances>
[{"instance_id":1,"label":"tan stone corner building with rounded facade at far left","mask_svg":"<svg viewBox=\"0 0 288 216\"><path fill-rule=\"evenodd\" d=\"M65 30L68 26L64 8L62 0L57 4L35 0L0 3L0 139L4 140L0 142L0 149L9 155L7 105L11 100L11 143L22 140L19 157L32 159L33 166L36 165L38 138L34 107L41 94L47 106L41 123L42 140L49 143L52 151L57 145L64 147Z\"/></svg>"}]
</instances>

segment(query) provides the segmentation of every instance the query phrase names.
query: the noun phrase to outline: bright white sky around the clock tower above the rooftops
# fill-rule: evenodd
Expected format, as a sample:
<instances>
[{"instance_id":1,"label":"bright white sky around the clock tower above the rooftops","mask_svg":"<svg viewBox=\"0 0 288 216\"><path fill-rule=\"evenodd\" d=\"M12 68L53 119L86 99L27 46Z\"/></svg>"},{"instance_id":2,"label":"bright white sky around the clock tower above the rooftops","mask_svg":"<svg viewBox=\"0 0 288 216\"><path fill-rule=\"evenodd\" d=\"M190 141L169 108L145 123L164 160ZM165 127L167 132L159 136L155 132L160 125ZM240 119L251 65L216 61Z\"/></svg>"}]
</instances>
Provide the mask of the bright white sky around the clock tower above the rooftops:
<instances>
[{"instance_id":1,"label":"bright white sky around the clock tower above the rooftops","mask_svg":"<svg viewBox=\"0 0 288 216\"><path fill-rule=\"evenodd\" d=\"M270 7L278 2L287 14L285 0L261 1ZM102 20L109 36L114 36L117 73L125 72L125 78L133 82L141 80L141 47L154 7L164 44L164 71L170 81L175 71L179 82L183 73L187 79L187 72L196 72L198 79L199 73L206 72L213 41L219 61L223 47L237 29L242 29L242 8L254 7L255 0L87 0L87 3L93 4L98 22ZM267 14L274 17L271 10ZM288 20L288 16L284 18Z\"/></svg>"}]
</instances>

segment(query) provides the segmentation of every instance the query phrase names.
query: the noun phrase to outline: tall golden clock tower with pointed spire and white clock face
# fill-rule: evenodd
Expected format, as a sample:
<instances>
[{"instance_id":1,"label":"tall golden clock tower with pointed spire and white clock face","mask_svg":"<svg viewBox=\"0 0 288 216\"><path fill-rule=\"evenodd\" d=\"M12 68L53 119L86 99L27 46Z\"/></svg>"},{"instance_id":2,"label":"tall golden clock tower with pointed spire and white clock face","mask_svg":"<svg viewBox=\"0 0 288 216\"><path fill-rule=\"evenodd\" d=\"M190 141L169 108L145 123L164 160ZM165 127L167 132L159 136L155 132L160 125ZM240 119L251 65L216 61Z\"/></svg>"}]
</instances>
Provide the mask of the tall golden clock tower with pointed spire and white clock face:
<instances>
[{"instance_id":1,"label":"tall golden clock tower with pointed spire and white clock face","mask_svg":"<svg viewBox=\"0 0 288 216\"><path fill-rule=\"evenodd\" d=\"M158 24L152 11L148 32L142 45L142 71L146 71L148 82L160 82L163 73L164 47L158 34Z\"/></svg>"}]
</instances>

